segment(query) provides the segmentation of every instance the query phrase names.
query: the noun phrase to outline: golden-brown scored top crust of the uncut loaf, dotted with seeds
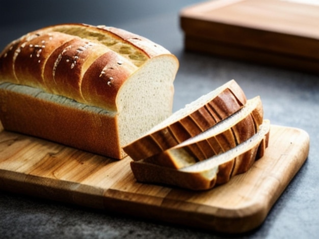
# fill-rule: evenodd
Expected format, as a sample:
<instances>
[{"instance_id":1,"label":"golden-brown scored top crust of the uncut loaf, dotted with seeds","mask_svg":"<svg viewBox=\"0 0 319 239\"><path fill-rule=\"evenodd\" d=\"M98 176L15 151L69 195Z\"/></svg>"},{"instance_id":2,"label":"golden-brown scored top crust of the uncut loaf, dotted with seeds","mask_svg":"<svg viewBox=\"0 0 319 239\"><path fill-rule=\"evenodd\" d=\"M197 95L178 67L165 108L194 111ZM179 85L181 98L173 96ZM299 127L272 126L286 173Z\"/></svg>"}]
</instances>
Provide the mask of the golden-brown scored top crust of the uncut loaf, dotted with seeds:
<instances>
[{"instance_id":1,"label":"golden-brown scored top crust of the uncut loaf, dotted with seeds","mask_svg":"<svg viewBox=\"0 0 319 239\"><path fill-rule=\"evenodd\" d=\"M161 55L178 62L164 47L123 29L53 25L20 37L2 51L0 82L38 87L117 111L123 83L148 59Z\"/></svg>"}]
</instances>

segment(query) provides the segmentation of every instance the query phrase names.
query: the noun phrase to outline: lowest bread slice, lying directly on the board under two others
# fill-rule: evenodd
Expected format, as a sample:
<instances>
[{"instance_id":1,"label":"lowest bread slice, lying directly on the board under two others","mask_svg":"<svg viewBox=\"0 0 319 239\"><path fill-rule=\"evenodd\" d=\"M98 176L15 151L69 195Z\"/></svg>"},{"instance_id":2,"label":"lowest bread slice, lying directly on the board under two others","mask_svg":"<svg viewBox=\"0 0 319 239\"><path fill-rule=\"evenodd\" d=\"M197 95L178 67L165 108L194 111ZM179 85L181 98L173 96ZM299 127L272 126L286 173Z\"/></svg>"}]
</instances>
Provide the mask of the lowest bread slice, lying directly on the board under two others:
<instances>
[{"instance_id":1,"label":"lowest bread slice, lying directly on the board under two others","mask_svg":"<svg viewBox=\"0 0 319 239\"><path fill-rule=\"evenodd\" d=\"M131 161L130 166L138 182L164 184L191 190L207 190L227 183L238 173L249 170L262 157L268 146L270 121L264 119L258 133L231 150L189 167L174 169L144 160Z\"/></svg>"}]
</instances>

